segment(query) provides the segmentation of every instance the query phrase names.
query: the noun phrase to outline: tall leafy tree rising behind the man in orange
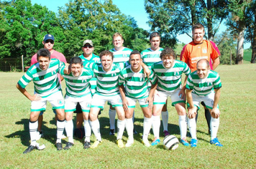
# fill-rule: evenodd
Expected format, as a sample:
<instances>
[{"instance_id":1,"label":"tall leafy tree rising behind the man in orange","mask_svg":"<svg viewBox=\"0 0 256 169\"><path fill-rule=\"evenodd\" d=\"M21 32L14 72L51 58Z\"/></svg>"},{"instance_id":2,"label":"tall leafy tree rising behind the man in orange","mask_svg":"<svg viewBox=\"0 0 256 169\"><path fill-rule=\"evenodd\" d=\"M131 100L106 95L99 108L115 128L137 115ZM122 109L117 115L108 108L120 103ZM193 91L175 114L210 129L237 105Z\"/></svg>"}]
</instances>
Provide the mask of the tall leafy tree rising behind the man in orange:
<instances>
[{"instance_id":1,"label":"tall leafy tree rising behind the man in orange","mask_svg":"<svg viewBox=\"0 0 256 169\"><path fill-rule=\"evenodd\" d=\"M204 24L208 31L206 39L212 40L227 14L225 0L146 0L145 8L150 15L152 30L163 34L163 44L172 47L177 42L176 34L191 35L196 23Z\"/></svg>"}]
</instances>

